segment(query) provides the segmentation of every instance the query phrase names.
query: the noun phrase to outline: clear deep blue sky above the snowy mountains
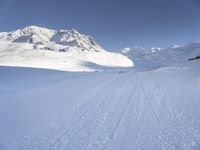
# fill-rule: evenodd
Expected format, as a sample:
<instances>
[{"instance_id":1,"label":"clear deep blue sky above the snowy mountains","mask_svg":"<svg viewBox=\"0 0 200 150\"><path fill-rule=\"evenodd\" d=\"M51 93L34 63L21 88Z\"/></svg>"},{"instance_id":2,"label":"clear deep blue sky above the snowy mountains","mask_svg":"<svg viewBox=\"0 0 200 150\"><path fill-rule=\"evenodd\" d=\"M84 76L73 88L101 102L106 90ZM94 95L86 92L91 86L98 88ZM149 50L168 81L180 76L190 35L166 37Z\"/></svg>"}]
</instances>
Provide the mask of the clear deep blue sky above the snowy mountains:
<instances>
[{"instance_id":1,"label":"clear deep blue sky above the snowy mountains","mask_svg":"<svg viewBox=\"0 0 200 150\"><path fill-rule=\"evenodd\" d=\"M0 31L75 28L108 50L200 42L200 0L0 0Z\"/></svg>"}]
</instances>

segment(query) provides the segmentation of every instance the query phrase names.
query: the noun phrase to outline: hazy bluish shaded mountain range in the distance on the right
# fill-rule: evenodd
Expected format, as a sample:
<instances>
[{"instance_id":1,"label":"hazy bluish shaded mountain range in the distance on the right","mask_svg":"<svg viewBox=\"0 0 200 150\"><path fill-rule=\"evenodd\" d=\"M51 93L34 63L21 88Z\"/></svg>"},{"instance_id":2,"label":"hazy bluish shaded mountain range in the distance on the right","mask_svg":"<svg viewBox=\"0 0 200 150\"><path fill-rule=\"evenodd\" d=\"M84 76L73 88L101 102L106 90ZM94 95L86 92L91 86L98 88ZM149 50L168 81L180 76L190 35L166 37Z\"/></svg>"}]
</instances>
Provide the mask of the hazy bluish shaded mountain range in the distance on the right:
<instances>
[{"instance_id":1,"label":"hazy bluish shaded mountain range in the distance on the right","mask_svg":"<svg viewBox=\"0 0 200 150\"><path fill-rule=\"evenodd\" d=\"M136 68L155 69L186 63L191 58L200 56L200 43L190 43L184 46L173 44L164 49L145 49L135 46L133 48L125 48L121 53L134 60Z\"/></svg>"}]
</instances>

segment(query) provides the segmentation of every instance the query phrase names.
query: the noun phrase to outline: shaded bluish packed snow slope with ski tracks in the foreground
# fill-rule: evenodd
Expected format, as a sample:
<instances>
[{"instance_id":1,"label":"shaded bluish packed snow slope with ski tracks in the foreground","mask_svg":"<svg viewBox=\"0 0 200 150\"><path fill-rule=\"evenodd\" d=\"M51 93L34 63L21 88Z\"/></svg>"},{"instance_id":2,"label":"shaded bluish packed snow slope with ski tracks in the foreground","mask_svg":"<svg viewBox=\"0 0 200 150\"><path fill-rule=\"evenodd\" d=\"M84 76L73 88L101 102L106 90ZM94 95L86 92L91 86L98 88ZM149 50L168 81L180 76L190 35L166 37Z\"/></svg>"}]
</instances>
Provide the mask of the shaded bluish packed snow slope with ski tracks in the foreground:
<instances>
[{"instance_id":1,"label":"shaded bluish packed snow slope with ski tracks in the foreground","mask_svg":"<svg viewBox=\"0 0 200 150\"><path fill-rule=\"evenodd\" d=\"M0 67L0 150L198 150L199 67L94 73Z\"/></svg>"}]
</instances>

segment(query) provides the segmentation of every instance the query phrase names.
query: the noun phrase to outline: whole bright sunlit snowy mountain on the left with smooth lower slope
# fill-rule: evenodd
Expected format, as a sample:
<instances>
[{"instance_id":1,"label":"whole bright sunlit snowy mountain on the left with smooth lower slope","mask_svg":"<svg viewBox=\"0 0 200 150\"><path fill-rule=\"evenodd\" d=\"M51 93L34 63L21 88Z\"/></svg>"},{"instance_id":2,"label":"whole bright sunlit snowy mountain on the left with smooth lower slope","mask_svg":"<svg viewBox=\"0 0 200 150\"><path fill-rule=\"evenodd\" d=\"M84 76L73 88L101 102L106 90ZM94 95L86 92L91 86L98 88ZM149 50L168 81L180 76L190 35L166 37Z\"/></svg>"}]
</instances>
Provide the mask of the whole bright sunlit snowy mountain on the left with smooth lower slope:
<instances>
[{"instance_id":1,"label":"whole bright sunlit snowy mountain on the left with smooth lower slope","mask_svg":"<svg viewBox=\"0 0 200 150\"><path fill-rule=\"evenodd\" d=\"M132 67L133 62L111 53L92 37L76 30L29 26L0 33L0 65L94 71L105 67Z\"/></svg>"}]
</instances>

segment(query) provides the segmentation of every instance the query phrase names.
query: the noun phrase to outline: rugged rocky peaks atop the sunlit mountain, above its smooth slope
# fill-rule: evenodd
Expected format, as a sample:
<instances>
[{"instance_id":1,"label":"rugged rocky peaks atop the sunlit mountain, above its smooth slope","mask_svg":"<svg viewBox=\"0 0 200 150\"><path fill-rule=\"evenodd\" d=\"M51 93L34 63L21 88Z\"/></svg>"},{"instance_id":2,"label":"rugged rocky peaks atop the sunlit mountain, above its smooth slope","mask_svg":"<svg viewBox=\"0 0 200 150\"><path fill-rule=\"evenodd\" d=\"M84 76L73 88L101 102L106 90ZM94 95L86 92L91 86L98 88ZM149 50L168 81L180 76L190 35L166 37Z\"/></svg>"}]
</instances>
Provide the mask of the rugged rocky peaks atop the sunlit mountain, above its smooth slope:
<instances>
[{"instance_id":1,"label":"rugged rocky peaks atop the sunlit mountain, above its smooth slope","mask_svg":"<svg viewBox=\"0 0 200 150\"><path fill-rule=\"evenodd\" d=\"M81 34L75 29L53 30L32 25L16 31L7 32L7 34L0 33L0 35L1 39L17 43L36 44L37 46L35 47L45 45L48 49L52 49L49 45L54 45L54 48L62 47L64 49L70 49L73 47L81 51L104 51L91 36Z\"/></svg>"}]
</instances>

